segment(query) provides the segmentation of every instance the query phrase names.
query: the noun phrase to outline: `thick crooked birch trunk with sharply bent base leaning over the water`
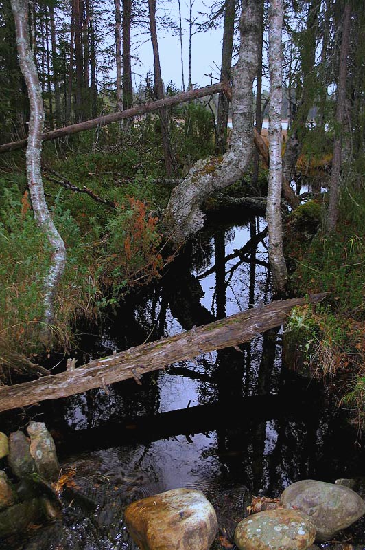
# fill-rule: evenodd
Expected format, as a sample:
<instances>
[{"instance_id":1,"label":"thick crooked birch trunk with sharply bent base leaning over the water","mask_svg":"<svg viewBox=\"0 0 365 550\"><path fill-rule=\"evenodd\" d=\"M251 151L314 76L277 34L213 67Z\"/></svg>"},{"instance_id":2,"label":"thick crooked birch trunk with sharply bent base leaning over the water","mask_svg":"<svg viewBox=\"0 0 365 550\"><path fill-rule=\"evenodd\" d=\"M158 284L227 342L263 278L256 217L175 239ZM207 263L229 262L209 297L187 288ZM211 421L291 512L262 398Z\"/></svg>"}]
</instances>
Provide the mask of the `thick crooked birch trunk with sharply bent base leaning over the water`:
<instances>
[{"instance_id":1,"label":"thick crooked birch trunk with sharply bent base leaning over the water","mask_svg":"<svg viewBox=\"0 0 365 550\"><path fill-rule=\"evenodd\" d=\"M183 183L172 191L165 223L176 243L202 228L202 202L215 190L222 190L240 179L252 157L252 84L257 74L261 28L257 0L243 1L239 28L239 58L233 67L231 146L223 157L196 162Z\"/></svg>"}]
</instances>

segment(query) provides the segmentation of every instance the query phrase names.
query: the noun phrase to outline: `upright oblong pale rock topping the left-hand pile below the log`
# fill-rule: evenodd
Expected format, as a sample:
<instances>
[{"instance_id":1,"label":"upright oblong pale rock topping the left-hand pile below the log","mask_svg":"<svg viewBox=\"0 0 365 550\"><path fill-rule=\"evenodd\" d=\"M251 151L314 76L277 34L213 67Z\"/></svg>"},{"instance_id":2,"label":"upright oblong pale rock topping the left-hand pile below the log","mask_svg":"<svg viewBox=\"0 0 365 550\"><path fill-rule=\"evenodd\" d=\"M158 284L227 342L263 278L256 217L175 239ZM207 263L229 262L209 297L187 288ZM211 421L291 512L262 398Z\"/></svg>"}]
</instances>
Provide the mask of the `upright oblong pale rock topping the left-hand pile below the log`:
<instances>
[{"instance_id":1,"label":"upright oblong pale rock topping the left-hand pile below the log","mask_svg":"<svg viewBox=\"0 0 365 550\"><path fill-rule=\"evenodd\" d=\"M36 470L47 481L56 481L60 473L56 445L43 422L30 422L27 427L30 435L30 454L36 464Z\"/></svg>"}]
</instances>

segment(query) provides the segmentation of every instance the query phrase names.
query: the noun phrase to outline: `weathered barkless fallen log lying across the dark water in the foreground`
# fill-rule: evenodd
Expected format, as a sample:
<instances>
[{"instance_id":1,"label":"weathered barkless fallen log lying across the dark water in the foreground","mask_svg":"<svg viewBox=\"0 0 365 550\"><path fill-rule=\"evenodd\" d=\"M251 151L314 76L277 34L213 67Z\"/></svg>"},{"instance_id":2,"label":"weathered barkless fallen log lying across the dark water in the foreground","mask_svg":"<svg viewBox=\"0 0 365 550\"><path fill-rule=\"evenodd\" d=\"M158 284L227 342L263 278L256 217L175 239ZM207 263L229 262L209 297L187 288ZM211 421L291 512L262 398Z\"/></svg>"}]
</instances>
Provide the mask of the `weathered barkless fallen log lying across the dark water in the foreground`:
<instances>
[{"instance_id":1,"label":"weathered barkless fallen log lying across the dark water in the foreground","mask_svg":"<svg viewBox=\"0 0 365 550\"><path fill-rule=\"evenodd\" d=\"M1 387L0 412L46 399L69 397L93 388L104 388L128 378L134 378L137 384L141 384L141 377L145 373L196 358L202 353L249 342L257 334L283 325L293 307L304 305L307 301L317 303L327 295L312 294L308 298L274 301L176 336L93 360L78 368L75 368L73 360L69 360L69 369L63 373Z\"/></svg>"}]
</instances>

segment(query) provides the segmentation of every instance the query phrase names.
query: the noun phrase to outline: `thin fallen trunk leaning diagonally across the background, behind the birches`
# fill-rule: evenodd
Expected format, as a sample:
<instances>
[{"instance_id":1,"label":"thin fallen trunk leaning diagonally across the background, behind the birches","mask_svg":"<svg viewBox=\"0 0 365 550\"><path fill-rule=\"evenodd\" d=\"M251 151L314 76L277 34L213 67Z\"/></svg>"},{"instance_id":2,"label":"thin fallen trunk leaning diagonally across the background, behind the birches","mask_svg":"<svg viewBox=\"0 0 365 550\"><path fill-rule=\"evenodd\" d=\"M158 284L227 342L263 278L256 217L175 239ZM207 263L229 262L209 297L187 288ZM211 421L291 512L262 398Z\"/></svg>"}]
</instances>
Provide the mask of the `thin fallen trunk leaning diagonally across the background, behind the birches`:
<instances>
[{"instance_id":1,"label":"thin fallen trunk leaning diagonally across the background, behind the birches","mask_svg":"<svg viewBox=\"0 0 365 550\"><path fill-rule=\"evenodd\" d=\"M187 101L204 98L204 96L211 96L211 94L217 94L219 91L224 91L228 84L219 82L212 84L211 86L205 86L204 88L197 88L194 90L184 91L176 96L169 96L167 98L160 99L158 101L150 103L141 103L131 109L125 111L117 111L110 115L99 116L91 120L85 120L84 122L78 122L78 124L71 124L71 126L64 126L50 132L43 133L42 140L44 142L50 140L56 140L58 137L64 137L65 135L71 135L74 133L83 132L85 130L91 130L97 126L106 126L112 122L119 122L126 118L133 118L134 116L143 115L145 113L152 113L152 111L158 111L163 107L172 107L180 103L186 103ZM15 151L16 149L22 149L27 146L28 140L19 140L16 142L4 143L0 145L0 153L8 153L8 151Z\"/></svg>"}]
</instances>

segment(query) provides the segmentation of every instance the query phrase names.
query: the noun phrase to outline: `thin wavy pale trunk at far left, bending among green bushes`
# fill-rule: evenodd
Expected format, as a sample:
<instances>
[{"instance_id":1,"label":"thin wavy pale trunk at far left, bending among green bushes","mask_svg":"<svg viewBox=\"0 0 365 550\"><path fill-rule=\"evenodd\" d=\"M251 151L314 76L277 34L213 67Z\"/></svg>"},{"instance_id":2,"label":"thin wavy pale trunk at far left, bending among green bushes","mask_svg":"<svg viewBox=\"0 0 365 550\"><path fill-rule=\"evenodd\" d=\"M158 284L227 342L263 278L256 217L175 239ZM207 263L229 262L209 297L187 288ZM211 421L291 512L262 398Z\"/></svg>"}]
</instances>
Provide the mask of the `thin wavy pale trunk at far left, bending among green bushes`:
<instances>
[{"instance_id":1,"label":"thin wavy pale trunk at far left, bending among green bushes","mask_svg":"<svg viewBox=\"0 0 365 550\"><path fill-rule=\"evenodd\" d=\"M45 232L52 249L51 267L44 280L44 305L45 322L51 324L54 317L54 294L66 263L66 251L64 242L56 230L54 222L49 214L42 177L40 175L40 153L42 149L42 131L44 124L44 111L42 94L34 64L32 50L30 49L28 34L28 2L27 0L11 0L16 28L16 45L18 47L19 64L21 72L27 84L30 100L30 122L27 145L27 180L30 189L30 198L34 210L34 217Z\"/></svg>"}]
</instances>

